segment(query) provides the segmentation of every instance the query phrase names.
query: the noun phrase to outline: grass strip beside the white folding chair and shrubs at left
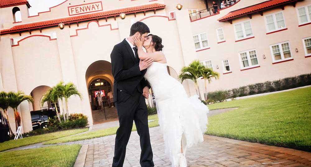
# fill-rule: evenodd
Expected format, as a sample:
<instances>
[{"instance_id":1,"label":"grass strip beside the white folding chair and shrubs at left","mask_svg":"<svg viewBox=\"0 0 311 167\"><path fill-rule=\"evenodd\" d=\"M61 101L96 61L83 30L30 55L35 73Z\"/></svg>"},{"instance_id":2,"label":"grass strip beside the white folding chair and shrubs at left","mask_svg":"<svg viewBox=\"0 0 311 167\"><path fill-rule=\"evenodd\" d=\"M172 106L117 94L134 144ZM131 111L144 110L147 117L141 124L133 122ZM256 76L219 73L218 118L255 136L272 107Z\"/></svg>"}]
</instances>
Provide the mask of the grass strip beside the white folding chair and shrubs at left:
<instances>
[{"instance_id":1,"label":"grass strip beside the white folding chair and shrubs at left","mask_svg":"<svg viewBox=\"0 0 311 167\"><path fill-rule=\"evenodd\" d=\"M72 130L47 133L43 135L24 137L18 140L9 140L9 141L0 143L0 152L10 150L13 148L17 148L17 147L21 147L21 146L27 146L27 145L31 145L35 143L40 143L43 141L49 141L49 140L57 139L60 137L70 136L70 135L85 132L88 130L89 128L72 129Z\"/></svg>"}]
</instances>

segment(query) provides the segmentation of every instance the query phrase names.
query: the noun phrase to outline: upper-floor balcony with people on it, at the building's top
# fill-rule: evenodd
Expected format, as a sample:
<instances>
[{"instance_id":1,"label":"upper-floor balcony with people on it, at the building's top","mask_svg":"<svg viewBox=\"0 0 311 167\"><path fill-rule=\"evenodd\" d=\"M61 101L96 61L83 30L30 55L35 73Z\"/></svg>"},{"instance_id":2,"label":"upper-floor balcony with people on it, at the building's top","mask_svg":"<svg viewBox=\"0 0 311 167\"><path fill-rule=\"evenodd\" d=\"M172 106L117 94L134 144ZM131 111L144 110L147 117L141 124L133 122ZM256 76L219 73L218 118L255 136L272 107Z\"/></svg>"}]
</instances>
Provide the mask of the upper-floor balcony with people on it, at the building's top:
<instances>
[{"instance_id":1,"label":"upper-floor balcony with people on it, at the building's top","mask_svg":"<svg viewBox=\"0 0 311 167\"><path fill-rule=\"evenodd\" d=\"M195 20L199 20L208 16L212 16L215 14L218 14L220 10L225 9L227 7L230 7L232 5L234 5L235 3L237 3L239 0L225 0L224 4L222 4L221 0L214 0L215 2L219 2L217 3L217 7L208 7L209 5L211 6L211 4L207 3L207 8L200 10L200 11L190 11L189 10L189 17L190 17L190 21L195 21Z\"/></svg>"}]
</instances>

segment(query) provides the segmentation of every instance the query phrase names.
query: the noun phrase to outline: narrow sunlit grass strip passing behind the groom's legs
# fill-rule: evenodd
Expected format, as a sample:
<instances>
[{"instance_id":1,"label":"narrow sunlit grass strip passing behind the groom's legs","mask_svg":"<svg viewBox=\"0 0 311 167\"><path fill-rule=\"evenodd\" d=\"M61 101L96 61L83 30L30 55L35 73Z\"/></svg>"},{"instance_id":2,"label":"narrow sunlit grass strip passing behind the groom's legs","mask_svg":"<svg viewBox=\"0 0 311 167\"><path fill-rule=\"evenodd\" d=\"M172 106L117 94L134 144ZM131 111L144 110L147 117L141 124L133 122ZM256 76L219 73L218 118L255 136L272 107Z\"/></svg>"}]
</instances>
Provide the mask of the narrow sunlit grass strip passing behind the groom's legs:
<instances>
[{"instance_id":1,"label":"narrow sunlit grass strip passing behind the groom's legs","mask_svg":"<svg viewBox=\"0 0 311 167\"><path fill-rule=\"evenodd\" d=\"M154 120L153 122L149 123L149 128L159 126L158 115L150 115L150 116L148 116L148 119ZM65 142L70 142L70 141L80 141L80 140L93 139L93 138L97 138L97 137L114 135L114 134L116 134L117 129L118 129L118 127L91 131L91 132L87 132L87 133L84 133L81 135L67 136L67 137L62 137L62 138L58 138L55 140L47 141L44 144L47 145L47 144L65 143ZM136 131L136 130L137 129L136 129L136 126L134 124L132 131Z\"/></svg>"}]
</instances>

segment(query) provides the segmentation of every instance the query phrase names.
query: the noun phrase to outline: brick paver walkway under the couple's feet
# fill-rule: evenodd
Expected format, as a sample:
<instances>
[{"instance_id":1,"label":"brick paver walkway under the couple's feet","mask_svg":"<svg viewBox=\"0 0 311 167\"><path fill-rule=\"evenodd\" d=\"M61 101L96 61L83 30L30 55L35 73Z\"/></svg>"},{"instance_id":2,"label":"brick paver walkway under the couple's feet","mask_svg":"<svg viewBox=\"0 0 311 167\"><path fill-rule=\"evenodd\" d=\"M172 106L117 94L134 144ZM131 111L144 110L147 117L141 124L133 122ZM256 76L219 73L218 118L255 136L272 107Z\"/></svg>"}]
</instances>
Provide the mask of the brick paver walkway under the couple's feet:
<instances>
[{"instance_id":1,"label":"brick paver walkway under the couple's feet","mask_svg":"<svg viewBox=\"0 0 311 167\"><path fill-rule=\"evenodd\" d=\"M164 154L164 141L160 128L150 128L150 135L155 165L171 166L169 158ZM114 139L115 135L101 137L99 142L89 144L84 167L111 167ZM139 136L137 132L132 132L123 166L139 167L139 157ZM189 167L311 166L311 153L308 152L209 135L204 135L203 143L189 148L186 158Z\"/></svg>"}]
</instances>

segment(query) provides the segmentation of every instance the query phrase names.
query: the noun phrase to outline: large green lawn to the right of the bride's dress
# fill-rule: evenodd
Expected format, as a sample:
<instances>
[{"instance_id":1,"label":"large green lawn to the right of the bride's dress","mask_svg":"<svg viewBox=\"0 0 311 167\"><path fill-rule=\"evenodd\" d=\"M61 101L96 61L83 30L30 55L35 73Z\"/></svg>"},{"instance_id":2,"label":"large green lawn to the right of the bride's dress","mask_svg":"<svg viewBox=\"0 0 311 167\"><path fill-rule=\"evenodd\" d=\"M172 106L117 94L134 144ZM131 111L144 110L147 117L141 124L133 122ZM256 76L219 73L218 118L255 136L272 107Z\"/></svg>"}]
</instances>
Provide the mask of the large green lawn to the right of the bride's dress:
<instances>
[{"instance_id":1,"label":"large green lawn to the right of the bride's dress","mask_svg":"<svg viewBox=\"0 0 311 167\"><path fill-rule=\"evenodd\" d=\"M311 87L208 107L239 109L210 117L206 134L311 151Z\"/></svg>"}]
</instances>

